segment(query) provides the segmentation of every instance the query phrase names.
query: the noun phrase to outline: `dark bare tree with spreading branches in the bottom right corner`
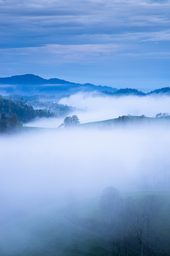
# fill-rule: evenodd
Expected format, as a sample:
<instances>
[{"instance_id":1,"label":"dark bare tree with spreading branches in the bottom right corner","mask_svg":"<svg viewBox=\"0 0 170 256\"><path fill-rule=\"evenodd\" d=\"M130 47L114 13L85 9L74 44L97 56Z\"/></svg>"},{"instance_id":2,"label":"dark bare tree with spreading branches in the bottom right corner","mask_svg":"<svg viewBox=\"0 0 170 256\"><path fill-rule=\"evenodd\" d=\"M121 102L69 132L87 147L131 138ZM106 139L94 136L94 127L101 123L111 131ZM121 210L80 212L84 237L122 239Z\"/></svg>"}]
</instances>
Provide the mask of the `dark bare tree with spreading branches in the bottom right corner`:
<instances>
[{"instance_id":1,"label":"dark bare tree with spreading branches in the bottom right corner","mask_svg":"<svg viewBox=\"0 0 170 256\"><path fill-rule=\"evenodd\" d=\"M134 205L134 215L131 220L132 233L127 235L136 238L140 245L140 255L150 256L165 253L160 236L157 235L157 214L159 212L159 199L155 195L143 196ZM137 247L136 247L137 252Z\"/></svg>"}]
</instances>

